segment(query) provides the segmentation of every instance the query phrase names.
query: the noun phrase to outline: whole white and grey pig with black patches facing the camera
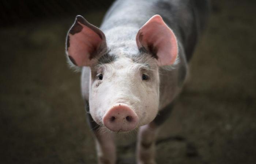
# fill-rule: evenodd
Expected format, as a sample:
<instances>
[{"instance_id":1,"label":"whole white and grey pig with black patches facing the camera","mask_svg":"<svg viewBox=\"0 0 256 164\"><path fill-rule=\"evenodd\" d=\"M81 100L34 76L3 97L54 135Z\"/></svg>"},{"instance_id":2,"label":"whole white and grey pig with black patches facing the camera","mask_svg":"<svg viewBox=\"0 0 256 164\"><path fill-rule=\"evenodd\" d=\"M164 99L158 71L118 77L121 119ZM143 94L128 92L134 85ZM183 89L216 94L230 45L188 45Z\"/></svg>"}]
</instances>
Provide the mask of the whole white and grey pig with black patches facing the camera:
<instances>
[{"instance_id":1,"label":"whole white and grey pig with black patches facing the camera","mask_svg":"<svg viewBox=\"0 0 256 164\"><path fill-rule=\"evenodd\" d=\"M113 134L138 132L136 161L155 164L155 139L188 75L207 0L117 0L100 28L78 15L66 39L80 68L99 164L117 161Z\"/></svg>"}]
</instances>

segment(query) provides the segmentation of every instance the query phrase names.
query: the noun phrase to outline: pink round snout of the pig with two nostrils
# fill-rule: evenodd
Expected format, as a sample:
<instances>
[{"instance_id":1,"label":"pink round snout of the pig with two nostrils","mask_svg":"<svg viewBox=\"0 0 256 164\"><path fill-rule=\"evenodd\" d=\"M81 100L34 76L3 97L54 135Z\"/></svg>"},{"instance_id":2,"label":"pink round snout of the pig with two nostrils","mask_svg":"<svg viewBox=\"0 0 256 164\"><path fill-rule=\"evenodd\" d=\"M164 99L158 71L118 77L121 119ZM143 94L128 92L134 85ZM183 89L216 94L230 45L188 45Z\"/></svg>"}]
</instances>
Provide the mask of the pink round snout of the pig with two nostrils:
<instances>
[{"instance_id":1,"label":"pink round snout of the pig with two nostrils","mask_svg":"<svg viewBox=\"0 0 256 164\"><path fill-rule=\"evenodd\" d=\"M138 124L137 114L128 106L118 104L103 116L103 124L114 132L127 132Z\"/></svg>"}]
</instances>

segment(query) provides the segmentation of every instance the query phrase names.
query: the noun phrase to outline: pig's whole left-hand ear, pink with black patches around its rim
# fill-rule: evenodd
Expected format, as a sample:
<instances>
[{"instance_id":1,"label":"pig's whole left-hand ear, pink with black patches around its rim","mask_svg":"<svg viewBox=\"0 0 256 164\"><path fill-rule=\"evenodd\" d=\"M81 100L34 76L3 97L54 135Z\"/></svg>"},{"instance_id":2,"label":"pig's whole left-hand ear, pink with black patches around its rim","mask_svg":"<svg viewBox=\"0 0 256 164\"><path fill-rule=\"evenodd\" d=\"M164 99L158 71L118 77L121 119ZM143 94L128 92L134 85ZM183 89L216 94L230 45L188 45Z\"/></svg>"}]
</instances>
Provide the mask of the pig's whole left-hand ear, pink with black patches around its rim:
<instances>
[{"instance_id":1,"label":"pig's whole left-hand ear, pink with black patches around its rim","mask_svg":"<svg viewBox=\"0 0 256 164\"><path fill-rule=\"evenodd\" d=\"M82 16L76 16L66 40L66 53L71 62L76 66L90 66L106 47L104 33Z\"/></svg>"}]
</instances>

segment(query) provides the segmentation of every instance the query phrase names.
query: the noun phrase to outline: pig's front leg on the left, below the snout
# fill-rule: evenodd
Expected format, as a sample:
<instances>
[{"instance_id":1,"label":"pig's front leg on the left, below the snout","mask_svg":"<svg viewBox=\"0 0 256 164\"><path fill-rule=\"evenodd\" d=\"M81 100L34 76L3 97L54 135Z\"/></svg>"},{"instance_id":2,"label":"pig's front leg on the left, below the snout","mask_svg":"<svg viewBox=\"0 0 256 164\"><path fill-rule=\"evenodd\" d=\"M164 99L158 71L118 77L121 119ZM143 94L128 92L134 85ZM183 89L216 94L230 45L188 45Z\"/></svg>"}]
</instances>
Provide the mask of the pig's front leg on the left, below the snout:
<instances>
[{"instance_id":1,"label":"pig's front leg on the left, below the snout","mask_svg":"<svg viewBox=\"0 0 256 164\"><path fill-rule=\"evenodd\" d=\"M99 125L93 120L89 111L89 103L86 101L87 121L95 134L95 144L99 164L116 163L116 147L114 137L109 133L104 133Z\"/></svg>"}]
</instances>

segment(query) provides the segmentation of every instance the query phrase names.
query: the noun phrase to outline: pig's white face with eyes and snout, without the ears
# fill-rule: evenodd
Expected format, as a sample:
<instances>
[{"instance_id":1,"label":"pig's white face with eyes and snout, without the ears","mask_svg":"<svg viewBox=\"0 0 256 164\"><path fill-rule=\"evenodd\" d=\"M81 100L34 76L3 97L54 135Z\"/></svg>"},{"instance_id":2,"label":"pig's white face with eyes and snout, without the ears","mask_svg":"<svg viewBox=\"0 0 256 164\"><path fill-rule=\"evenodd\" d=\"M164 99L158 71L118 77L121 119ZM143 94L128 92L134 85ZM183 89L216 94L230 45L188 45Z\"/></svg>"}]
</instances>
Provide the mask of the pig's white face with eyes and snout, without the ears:
<instances>
[{"instance_id":1,"label":"pig's white face with eyes and snout, without the ears","mask_svg":"<svg viewBox=\"0 0 256 164\"><path fill-rule=\"evenodd\" d=\"M142 63L120 56L113 62L94 66L89 102L93 119L112 131L128 131L148 124L158 112L156 62ZM123 108L127 110L123 112Z\"/></svg>"}]
</instances>

